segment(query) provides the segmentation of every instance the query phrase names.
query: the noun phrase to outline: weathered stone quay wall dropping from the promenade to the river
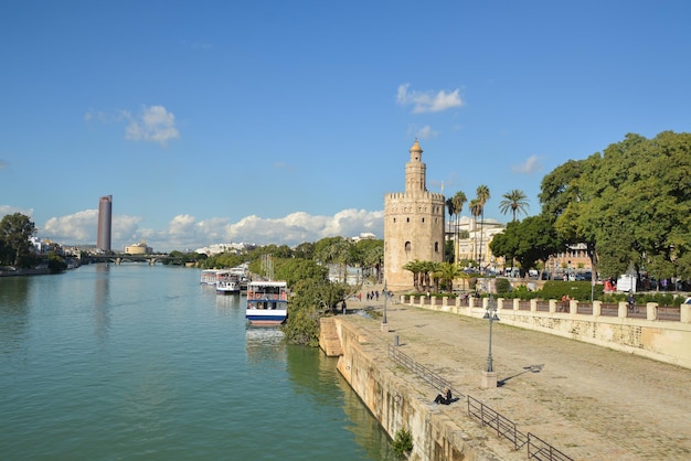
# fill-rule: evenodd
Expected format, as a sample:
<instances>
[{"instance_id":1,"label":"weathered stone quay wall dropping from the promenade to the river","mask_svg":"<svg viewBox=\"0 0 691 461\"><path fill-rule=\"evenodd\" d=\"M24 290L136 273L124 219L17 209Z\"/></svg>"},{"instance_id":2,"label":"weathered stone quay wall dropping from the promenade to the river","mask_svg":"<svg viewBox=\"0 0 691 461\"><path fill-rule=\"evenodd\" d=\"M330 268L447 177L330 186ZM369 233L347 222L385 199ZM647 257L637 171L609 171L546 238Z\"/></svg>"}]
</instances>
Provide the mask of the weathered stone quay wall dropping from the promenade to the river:
<instances>
[{"instance_id":1,"label":"weathered stone quay wall dropping from the promenade to the river","mask_svg":"<svg viewBox=\"0 0 691 461\"><path fill-rule=\"evenodd\" d=\"M500 460L487 446L487 433L474 421L467 427L435 411L429 401L429 389L395 365L386 356L385 345L370 341L368 332L340 317L321 321L320 345L325 352L339 356L338 371L348 380L360 399L389 436L394 439L401 429L410 430L413 451L410 460L476 461ZM334 337L340 347L332 347ZM338 350L338 352L337 352Z\"/></svg>"}]
</instances>

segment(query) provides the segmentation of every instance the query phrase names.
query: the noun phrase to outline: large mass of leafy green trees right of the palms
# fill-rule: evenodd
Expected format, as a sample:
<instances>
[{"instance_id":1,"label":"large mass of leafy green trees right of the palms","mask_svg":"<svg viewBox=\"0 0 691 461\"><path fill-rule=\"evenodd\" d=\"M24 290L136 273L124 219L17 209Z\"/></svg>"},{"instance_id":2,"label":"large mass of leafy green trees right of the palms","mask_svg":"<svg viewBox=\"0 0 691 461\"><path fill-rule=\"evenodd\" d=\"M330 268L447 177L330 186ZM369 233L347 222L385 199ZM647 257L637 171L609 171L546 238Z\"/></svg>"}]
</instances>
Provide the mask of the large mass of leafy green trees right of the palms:
<instances>
[{"instance_id":1,"label":"large mass of leafy green trees right of the palms","mask_svg":"<svg viewBox=\"0 0 691 461\"><path fill-rule=\"evenodd\" d=\"M495 236L496 256L524 269L584 244L593 274L691 279L691 133L629 133L541 183L541 213Z\"/></svg>"}]
</instances>

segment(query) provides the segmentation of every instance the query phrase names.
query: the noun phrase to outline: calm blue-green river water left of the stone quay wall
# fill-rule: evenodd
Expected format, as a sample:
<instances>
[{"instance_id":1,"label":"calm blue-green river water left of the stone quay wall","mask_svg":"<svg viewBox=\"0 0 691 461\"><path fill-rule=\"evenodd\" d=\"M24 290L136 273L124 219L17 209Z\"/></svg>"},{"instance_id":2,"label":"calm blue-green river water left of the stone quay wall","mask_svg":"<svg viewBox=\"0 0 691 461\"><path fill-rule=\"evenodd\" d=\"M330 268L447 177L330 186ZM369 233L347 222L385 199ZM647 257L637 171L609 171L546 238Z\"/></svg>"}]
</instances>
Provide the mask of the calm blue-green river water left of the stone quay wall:
<instances>
[{"instance_id":1,"label":"calm blue-green river water left of the stone quay wall","mask_svg":"<svg viewBox=\"0 0 691 461\"><path fill-rule=\"evenodd\" d=\"M196 269L0 278L0 458L393 460L318 349L247 329Z\"/></svg>"}]
</instances>

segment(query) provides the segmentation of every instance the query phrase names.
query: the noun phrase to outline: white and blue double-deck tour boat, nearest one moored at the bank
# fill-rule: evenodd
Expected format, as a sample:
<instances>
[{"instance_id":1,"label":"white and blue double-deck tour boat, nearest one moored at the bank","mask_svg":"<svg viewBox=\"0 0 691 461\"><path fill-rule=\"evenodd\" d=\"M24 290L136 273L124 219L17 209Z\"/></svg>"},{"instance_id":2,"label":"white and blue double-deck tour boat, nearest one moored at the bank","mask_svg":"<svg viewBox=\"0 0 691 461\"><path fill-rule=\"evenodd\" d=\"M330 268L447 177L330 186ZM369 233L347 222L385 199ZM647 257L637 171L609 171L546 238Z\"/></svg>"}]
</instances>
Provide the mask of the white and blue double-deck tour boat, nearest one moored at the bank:
<instances>
[{"instance_id":1,"label":"white and blue double-deck tour boat, nearest one moored at the bank","mask_svg":"<svg viewBox=\"0 0 691 461\"><path fill-rule=\"evenodd\" d=\"M288 285L285 281L247 283L247 321L253 325L279 325L288 318Z\"/></svg>"}]
</instances>

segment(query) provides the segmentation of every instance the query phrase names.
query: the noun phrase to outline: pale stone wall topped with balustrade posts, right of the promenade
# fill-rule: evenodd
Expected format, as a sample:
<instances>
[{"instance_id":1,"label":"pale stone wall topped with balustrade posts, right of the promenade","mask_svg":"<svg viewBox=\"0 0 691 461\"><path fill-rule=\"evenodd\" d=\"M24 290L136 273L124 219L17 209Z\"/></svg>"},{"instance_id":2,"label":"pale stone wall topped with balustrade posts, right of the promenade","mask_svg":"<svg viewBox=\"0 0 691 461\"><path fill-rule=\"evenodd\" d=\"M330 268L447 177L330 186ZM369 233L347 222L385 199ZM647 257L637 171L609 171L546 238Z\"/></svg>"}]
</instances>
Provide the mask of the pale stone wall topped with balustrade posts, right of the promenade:
<instances>
[{"instance_id":1,"label":"pale stone wall topped with balustrade posts, right of the promenade","mask_svg":"<svg viewBox=\"0 0 691 461\"><path fill-rule=\"evenodd\" d=\"M470 298L467 302L469 305L461 305L459 298L401 297L403 304L478 319L485 315L489 300ZM499 298L496 302L497 315L501 323L691 368L691 304L680 307L678 321L668 321L659 320L658 304L653 302L640 307L645 312L641 318L628 317L626 302L619 302L616 317L602 315L599 301L593 302L592 313L587 314L578 313L577 301L571 301L563 312L560 311L561 303L556 300L550 300L545 310L539 308L539 302L545 301ZM530 304L528 309L521 308L521 303L528 302Z\"/></svg>"}]
</instances>

